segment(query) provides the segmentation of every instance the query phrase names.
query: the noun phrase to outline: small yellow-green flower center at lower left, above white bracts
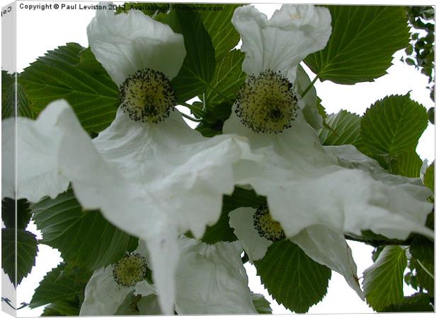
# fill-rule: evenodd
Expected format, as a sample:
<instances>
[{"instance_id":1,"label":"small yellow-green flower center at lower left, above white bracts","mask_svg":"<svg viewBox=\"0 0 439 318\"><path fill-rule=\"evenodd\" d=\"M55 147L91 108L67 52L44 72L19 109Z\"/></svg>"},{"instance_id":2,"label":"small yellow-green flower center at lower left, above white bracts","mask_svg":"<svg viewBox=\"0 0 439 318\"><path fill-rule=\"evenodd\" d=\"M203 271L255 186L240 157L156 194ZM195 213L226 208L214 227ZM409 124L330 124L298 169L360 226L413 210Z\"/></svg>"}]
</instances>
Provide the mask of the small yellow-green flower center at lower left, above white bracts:
<instances>
[{"instance_id":1,"label":"small yellow-green flower center at lower left, above white bracts","mask_svg":"<svg viewBox=\"0 0 439 318\"><path fill-rule=\"evenodd\" d=\"M118 285L130 287L146 278L147 269L147 259L131 253L113 265L113 277Z\"/></svg>"}]
</instances>

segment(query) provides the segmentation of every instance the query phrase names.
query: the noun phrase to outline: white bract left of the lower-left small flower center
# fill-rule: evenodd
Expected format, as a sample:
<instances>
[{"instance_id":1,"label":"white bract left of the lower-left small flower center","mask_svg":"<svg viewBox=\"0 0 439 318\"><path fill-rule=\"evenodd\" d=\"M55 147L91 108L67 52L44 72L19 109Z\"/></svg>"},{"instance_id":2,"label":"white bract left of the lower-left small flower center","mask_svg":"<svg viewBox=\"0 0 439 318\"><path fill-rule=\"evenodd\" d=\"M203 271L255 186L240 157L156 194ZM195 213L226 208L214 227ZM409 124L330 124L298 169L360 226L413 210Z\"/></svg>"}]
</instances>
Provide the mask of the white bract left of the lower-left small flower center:
<instances>
[{"instance_id":1,"label":"white bract left of the lower-left small flower center","mask_svg":"<svg viewBox=\"0 0 439 318\"><path fill-rule=\"evenodd\" d=\"M113 278L113 266L95 271L86 285L79 316L113 316L134 287L121 287Z\"/></svg>"}]
</instances>

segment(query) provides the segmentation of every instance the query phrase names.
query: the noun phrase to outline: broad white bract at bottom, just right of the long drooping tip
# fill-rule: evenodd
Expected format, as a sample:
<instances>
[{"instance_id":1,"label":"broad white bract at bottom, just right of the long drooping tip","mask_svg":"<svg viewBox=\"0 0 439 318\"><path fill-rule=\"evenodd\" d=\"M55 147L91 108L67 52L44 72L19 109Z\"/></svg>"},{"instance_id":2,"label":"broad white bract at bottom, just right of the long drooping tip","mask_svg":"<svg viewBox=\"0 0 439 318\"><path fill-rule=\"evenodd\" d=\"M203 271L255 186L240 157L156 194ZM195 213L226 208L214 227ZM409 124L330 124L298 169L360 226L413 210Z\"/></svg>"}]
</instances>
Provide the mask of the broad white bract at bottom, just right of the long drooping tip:
<instances>
[{"instance_id":1,"label":"broad white bract at bottom, just right of the long drooping tip","mask_svg":"<svg viewBox=\"0 0 439 318\"><path fill-rule=\"evenodd\" d=\"M207 245L181 237L178 314L256 314L236 242Z\"/></svg>"}]
</instances>

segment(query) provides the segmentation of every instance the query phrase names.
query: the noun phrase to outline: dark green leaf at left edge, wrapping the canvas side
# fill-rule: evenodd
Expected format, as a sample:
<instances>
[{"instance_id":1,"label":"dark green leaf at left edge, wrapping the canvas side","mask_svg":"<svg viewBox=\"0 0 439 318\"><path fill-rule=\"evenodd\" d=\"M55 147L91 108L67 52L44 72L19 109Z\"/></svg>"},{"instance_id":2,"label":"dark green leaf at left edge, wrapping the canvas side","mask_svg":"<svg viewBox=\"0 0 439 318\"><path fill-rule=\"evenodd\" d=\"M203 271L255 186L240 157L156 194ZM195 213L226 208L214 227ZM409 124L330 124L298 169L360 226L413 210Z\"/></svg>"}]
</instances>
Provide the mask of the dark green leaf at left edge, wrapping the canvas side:
<instances>
[{"instance_id":1,"label":"dark green leaf at left edge, wrapping the canvas side","mask_svg":"<svg viewBox=\"0 0 439 318\"><path fill-rule=\"evenodd\" d=\"M15 114L17 92L17 111L18 116L33 118L34 114L29 107L23 87L17 83L15 86L15 76L1 71L1 119L13 117Z\"/></svg>"}]
</instances>

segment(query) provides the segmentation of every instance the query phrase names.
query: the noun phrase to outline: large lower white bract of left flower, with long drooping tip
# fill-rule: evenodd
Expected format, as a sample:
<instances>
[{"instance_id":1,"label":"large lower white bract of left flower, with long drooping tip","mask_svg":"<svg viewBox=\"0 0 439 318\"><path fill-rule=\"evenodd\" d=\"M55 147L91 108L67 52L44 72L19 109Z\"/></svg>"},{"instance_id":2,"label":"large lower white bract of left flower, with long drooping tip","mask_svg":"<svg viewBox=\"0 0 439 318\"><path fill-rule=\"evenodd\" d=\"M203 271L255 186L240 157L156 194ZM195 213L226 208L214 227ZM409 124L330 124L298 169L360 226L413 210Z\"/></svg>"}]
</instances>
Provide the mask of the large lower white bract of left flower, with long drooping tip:
<instances>
[{"instance_id":1,"label":"large lower white bract of left flower, with long drooping tip","mask_svg":"<svg viewBox=\"0 0 439 318\"><path fill-rule=\"evenodd\" d=\"M220 218L222 196L234 189L234 163L251 158L246 140L206 139L177 112L163 123L145 124L119 111L93 141L68 106L56 123L57 134L50 135L56 145L49 151L57 171L72 182L83 208L100 209L115 226L147 242L161 309L173 313L178 235L191 230L201 237ZM38 173L28 170L24 166L23 175Z\"/></svg>"}]
</instances>

